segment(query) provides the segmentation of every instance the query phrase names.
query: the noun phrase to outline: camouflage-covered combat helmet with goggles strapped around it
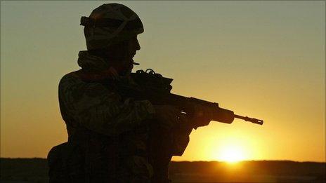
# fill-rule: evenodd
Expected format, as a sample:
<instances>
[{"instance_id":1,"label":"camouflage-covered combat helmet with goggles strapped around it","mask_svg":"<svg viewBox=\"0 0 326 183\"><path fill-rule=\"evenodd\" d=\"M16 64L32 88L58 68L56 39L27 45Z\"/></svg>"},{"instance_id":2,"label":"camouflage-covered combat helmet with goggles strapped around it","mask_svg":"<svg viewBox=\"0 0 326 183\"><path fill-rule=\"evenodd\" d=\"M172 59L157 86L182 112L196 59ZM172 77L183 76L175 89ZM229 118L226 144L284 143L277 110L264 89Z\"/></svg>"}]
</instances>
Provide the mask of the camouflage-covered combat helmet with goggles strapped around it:
<instances>
[{"instance_id":1,"label":"camouflage-covered combat helmet with goggles strapped around it","mask_svg":"<svg viewBox=\"0 0 326 183\"><path fill-rule=\"evenodd\" d=\"M122 4L103 4L81 17L87 50L107 48L144 32L138 15Z\"/></svg>"}]
</instances>

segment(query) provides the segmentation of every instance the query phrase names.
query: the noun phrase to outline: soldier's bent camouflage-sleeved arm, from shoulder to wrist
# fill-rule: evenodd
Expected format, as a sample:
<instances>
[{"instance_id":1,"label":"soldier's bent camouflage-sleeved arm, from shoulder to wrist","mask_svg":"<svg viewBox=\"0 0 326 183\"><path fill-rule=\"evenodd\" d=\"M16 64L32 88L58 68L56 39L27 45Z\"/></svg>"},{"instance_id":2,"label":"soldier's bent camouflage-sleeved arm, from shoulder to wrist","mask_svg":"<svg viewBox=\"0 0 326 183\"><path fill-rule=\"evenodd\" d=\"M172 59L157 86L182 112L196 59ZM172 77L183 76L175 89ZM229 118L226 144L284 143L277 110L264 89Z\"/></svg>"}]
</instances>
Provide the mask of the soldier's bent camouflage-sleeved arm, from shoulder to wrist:
<instances>
[{"instance_id":1,"label":"soldier's bent camouflage-sleeved arm, from shoulder to wrist","mask_svg":"<svg viewBox=\"0 0 326 183\"><path fill-rule=\"evenodd\" d=\"M99 83L86 83L69 75L60 81L59 97L74 123L105 135L119 135L142 126L155 114L147 100L122 101Z\"/></svg>"}]
</instances>

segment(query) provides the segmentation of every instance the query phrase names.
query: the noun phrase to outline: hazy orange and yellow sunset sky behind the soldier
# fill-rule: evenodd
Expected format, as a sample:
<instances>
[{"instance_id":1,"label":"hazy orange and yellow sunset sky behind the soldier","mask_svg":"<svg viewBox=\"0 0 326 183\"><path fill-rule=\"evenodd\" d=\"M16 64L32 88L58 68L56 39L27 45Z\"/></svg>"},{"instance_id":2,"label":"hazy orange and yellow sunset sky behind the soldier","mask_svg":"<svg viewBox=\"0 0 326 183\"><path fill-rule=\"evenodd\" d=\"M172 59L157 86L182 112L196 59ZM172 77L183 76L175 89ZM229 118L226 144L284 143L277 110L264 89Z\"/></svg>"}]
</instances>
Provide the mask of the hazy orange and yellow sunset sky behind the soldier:
<instances>
[{"instance_id":1,"label":"hazy orange and yellow sunset sky behind the soldier","mask_svg":"<svg viewBox=\"0 0 326 183\"><path fill-rule=\"evenodd\" d=\"M1 1L1 157L65 142L58 82L86 49L81 16L101 1ZM123 1L143 20L136 69L173 93L263 118L193 130L175 161L325 162L325 1Z\"/></svg>"}]
</instances>

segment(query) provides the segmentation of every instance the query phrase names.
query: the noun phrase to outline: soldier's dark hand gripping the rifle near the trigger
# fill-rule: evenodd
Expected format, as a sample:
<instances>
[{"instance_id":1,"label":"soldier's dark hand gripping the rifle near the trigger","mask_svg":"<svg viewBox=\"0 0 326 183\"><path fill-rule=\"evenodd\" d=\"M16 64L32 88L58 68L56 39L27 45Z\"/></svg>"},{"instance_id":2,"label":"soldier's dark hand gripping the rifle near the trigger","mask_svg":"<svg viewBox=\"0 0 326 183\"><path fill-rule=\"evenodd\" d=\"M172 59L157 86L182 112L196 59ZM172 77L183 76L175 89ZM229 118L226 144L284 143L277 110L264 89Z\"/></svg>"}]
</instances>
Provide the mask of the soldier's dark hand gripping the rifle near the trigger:
<instances>
[{"instance_id":1,"label":"soldier's dark hand gripping the rifle near the trigger","mask_svg":"<svg viewBox=\"0 0 326 183\"><path fill-rule=\"evenodd\" d=\"M176 123L179 123L181 111L171 105L155 105L155 116L160 126L164 128L172 128Z\"/></svg>"}]
</instances>

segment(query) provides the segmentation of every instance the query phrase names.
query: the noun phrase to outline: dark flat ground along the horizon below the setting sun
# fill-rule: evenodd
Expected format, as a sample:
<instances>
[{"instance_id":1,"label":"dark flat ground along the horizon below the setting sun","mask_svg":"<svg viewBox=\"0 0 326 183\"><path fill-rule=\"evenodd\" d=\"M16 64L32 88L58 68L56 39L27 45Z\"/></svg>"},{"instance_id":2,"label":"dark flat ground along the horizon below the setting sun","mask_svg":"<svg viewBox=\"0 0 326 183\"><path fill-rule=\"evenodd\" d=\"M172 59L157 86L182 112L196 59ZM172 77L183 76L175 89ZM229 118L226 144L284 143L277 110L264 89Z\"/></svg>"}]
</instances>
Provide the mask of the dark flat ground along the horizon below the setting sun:
<instances>
[{"instance_id":1,"label":"dark flat ground along the horizon below the setting sun","mask_svg":"<svg viewBox=\"0 0 326 183\"><path fill-rule=\"evenodd\" d=\"M1 158L1 182L48 182L43 158ZM173 182L326 182L326 163L294 161L171 162Z\"/></svg>"}]
</instances>

